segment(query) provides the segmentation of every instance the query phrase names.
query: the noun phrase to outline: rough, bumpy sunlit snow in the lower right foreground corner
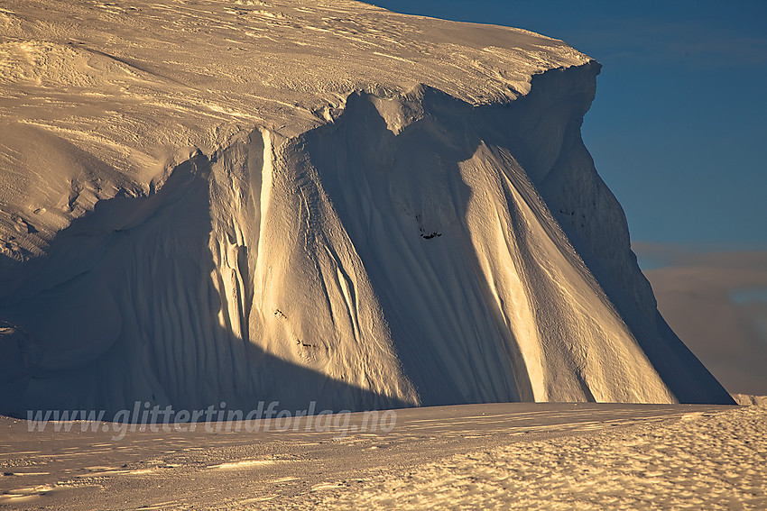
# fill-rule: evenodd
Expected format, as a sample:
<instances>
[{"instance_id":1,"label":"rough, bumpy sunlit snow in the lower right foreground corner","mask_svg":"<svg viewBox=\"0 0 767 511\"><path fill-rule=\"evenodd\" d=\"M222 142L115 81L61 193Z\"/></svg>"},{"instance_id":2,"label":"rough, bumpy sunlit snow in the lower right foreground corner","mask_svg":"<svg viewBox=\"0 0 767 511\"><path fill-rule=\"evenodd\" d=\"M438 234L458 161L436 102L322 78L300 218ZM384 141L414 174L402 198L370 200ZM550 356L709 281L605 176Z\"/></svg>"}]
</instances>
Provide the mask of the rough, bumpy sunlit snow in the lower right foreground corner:
<instances>
[{"instance_id":1,"label":"rough, bumpy sunlit snow in the lower right foreground corner","mask_svg":"<svg viewBox=\"0 0 767 511\"><path fill-rule=\"evenodd\" d=\"M764 509L767 406L516 442L310 497L337 509Z\"/></svg>"}]
</instances>

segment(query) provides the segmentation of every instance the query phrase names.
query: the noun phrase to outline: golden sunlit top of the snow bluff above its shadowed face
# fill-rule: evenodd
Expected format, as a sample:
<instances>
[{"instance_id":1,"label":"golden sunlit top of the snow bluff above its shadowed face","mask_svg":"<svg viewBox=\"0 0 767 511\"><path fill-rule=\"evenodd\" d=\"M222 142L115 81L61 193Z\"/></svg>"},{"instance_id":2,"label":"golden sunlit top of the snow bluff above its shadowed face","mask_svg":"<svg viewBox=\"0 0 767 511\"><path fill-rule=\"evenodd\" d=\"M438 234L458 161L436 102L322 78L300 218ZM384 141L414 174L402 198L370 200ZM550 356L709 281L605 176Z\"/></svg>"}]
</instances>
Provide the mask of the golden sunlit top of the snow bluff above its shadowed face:
<instances>
[{"instance_id":1,"label":"golden sunlit top of the snow bluff above its shadowed face","mask_svg":"<svg viewBox=\"0 0 767 511\"><path fill-rule=\"evenodd\" d=\"M533 32L349 1L10 0L0 23L4 123L137 174L254 126L306 132L354 91L423 84L472 105L505 103L536 74L592 61Z\"/></svg>"}]
</instances>

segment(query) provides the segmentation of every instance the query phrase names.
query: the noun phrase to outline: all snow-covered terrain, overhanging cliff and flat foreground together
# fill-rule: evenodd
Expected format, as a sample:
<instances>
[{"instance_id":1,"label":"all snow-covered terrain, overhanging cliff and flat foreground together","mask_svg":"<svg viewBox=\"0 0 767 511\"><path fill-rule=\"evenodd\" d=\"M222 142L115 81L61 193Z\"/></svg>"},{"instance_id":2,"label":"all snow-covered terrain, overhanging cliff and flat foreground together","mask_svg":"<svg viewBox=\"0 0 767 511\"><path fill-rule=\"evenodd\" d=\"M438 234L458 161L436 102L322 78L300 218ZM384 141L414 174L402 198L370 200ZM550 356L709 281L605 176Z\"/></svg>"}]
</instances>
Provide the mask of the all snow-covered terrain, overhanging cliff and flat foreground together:
<instances>
[{"instance_id":1,"label":"all snow-covered terrain, overhanging cliff and flat foreground together","mask_svg":"<svg viewBox=\"0 0 767 511\"><path fill-rule=\"evenodd\" d=\"M581 141L599 68L345 0L5 0L0 413L398 409L4 417L0 506L763 506L765 408L676 404L733 400Z\"/></svg>"}]
</instances>

